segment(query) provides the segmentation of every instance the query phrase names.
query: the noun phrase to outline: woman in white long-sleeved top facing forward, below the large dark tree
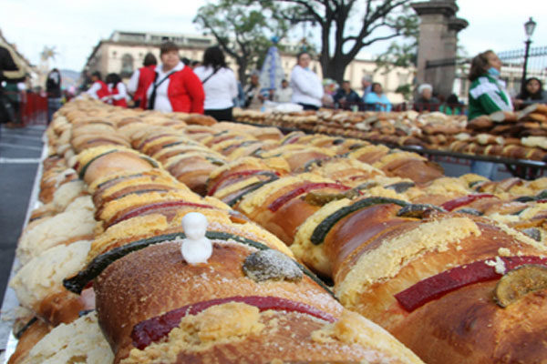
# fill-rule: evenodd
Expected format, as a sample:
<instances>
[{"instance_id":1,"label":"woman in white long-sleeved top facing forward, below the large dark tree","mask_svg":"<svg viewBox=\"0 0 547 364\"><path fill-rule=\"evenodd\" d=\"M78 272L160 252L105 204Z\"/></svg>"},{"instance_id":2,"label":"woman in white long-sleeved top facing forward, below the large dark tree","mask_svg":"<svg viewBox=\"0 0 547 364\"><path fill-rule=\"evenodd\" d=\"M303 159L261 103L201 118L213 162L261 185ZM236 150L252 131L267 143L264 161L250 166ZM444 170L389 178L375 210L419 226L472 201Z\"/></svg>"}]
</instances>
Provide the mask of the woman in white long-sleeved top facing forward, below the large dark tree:
<instances>
[{"instance_id":1,"label":"woman in white long-sleeved top facing forward, below the large dark tree","mask_svg":"<svg viewBox=\"0 0 547 364\"><path fill-rule=\"evenodd\" d=\"M304 110L317 110L322 103L323 85L315 72L309 69L312 57L307 52L301 52L297 60L298 64L291 72L291 101L304 106Z\"/></svg>"}]
</instances>

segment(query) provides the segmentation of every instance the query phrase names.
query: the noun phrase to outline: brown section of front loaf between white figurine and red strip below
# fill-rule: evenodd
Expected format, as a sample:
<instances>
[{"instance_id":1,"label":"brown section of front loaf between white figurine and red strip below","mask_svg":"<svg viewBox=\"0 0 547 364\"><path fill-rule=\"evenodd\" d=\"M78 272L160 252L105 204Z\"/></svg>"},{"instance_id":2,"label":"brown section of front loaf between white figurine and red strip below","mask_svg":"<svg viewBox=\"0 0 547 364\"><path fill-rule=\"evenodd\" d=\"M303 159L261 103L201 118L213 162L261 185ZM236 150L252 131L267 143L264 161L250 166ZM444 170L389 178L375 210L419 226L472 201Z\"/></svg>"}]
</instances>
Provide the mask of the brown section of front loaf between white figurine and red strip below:
<instances>
[{"instance_id":1,"label":"brown section of front loaf between white figurine and red strip below","mask_svg":"<svg viewBox=\"0 0 547 364\"><path fill-rule=\"evenodd\" d=\"M133 326L175 308L212 298L275 296L304 302L339 315L341 307L310 278L298 283L256 283L243 274L252 249L214 243L207 264L188 265L177 243L162 243L110 264L96 279L98 319L118 359L131 349Z\"/></svg>"}]
</instances>

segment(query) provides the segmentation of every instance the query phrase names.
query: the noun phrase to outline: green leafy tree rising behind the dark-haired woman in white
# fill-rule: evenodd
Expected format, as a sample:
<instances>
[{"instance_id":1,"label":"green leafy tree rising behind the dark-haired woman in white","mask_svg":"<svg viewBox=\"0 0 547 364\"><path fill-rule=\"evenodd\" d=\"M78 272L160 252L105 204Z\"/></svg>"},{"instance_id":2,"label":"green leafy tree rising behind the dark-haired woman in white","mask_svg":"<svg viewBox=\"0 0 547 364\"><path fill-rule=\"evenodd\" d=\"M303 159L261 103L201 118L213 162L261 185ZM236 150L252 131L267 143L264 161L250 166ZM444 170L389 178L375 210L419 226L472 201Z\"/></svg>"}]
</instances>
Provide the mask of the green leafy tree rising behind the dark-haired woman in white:
<instances>
[{"instance_id":1,"label":"green leafy tree rising behind the dark-haired woman in white","mask_svg":"<svg viewBox=\"0 0 547 364\"><path fill-rule=\"evenodd\" d=\"M193 20L232 56L243 86L249 67L258 67L272 45L270 38L286 35L288 25L271 1L220 0L201 6Z\"/></svg>"}]
</instances>

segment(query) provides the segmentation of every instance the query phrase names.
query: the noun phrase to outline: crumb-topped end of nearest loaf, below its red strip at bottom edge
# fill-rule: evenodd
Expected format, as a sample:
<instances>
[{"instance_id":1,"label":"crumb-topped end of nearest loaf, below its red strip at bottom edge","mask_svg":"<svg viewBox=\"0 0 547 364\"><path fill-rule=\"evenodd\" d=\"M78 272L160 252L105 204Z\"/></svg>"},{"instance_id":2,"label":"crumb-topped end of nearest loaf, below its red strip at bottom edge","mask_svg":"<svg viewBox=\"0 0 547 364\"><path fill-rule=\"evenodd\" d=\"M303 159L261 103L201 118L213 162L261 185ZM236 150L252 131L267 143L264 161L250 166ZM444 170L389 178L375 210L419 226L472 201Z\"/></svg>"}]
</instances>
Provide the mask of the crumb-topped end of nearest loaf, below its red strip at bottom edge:
<instances>
[{"instance_id":1,"label":"crumb-topped end of nearest loaf, below its red strip at bottom edge","mask_svg":"<svg viewBox=\"0 0 547 364\"><path fill-rule=\"evenodd\" d=\"M133 349L122 363L421 363L387 332L353 312L325 324L301 313L256 311L243 304L208 308L182 319L164 342ZM218 319L226 323L222 329Z\"/></svg>"}]
</instances>

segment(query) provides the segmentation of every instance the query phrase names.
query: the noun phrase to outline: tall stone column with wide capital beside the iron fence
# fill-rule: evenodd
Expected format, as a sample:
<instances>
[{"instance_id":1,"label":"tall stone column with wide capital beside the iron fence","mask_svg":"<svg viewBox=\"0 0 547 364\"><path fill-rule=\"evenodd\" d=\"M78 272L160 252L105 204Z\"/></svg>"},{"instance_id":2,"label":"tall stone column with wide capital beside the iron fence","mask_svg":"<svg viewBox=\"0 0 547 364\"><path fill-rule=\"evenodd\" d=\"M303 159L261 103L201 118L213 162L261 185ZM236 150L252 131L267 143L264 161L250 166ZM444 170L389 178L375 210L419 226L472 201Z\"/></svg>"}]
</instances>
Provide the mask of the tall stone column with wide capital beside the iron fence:
<instances>
[{"instance_id":1,"label":"tall stone column with wide capital beside the iron fence","mask_svg":"<svg viewBox=\"0 0 547 364\"><path fill-rule=\"evenodd\" d=\"M411 4L420 18L418 38L418 85L428 83L442 96L452 93L456 73L458 33L468 22L455 15L455 0L431 0ZM428 62L437 66L426 67Z\"/></svg>"}]
</instances>

